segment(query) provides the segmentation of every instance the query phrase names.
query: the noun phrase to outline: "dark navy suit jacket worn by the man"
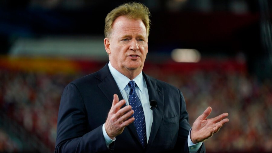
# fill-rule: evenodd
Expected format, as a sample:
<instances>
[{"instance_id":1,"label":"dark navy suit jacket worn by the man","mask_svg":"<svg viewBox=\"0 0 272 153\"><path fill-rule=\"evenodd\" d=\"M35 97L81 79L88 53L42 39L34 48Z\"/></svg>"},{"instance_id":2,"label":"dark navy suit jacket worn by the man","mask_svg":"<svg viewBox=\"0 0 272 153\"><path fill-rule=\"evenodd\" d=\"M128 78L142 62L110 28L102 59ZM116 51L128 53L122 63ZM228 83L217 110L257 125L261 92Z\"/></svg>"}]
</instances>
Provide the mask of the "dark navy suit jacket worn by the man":
<instances>
[{"instance_id":1,"label":"dark navy suit jacket worn by the man","mask_svg":"<svg viewBox=\"0 0 272 153\"><path fill-rule=\"evenodd\" d=\"M143 73L153 108L153 123L144 149L133 124L128 125L109 148L102 125L112 106L113 95L123 99L108 64L96 73L69 83L62 94L55 152L188 152L190 125L180 90ZM199 152L205 152L204 144Z\"/></svg>"}]
</instances>

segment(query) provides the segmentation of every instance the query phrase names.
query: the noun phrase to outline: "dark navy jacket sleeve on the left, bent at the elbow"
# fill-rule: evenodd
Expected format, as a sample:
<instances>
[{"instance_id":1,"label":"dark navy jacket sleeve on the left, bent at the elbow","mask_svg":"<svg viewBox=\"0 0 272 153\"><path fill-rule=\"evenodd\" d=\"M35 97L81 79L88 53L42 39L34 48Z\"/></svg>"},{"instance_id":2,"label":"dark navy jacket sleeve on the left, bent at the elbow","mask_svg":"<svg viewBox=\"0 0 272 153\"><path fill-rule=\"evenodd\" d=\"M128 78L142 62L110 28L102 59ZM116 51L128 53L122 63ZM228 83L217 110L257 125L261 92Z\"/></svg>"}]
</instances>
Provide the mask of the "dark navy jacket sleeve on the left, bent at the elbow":
<instances>
[{"instance_id":1,"label":"dark navy jacket sleeve on the left, bent at the elbow","mask_svg":"<svg viewBox=\"0 0 272 153\"><path fill-rule=\"evenodd\" d=\"M108 152L102 125L87 131L87 112L77 86L68 84L61 96L55 153Z\"/></svg>"}]
</instances>

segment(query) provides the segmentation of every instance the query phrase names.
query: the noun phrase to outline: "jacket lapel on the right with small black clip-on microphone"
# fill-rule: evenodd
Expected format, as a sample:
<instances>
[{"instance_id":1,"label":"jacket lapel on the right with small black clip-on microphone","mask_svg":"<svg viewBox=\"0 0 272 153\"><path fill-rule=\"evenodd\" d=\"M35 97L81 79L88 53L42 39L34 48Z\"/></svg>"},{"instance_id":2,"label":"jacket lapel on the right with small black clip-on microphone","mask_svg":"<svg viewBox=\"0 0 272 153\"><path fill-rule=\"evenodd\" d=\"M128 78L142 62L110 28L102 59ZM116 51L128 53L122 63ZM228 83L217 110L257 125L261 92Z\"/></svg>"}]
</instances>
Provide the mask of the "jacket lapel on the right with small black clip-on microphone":
<instances>
[{"instance_id":1,"label":"jacket lapel on the right with small black clip-on microphone","mask_svg":"<svg viewBox=\"0 0 272 153\"><path fill-rule=\"evenodd\" d=\"M149 101L155 100L157 102L157 107L152 109L153 113L153 123L151 126L151 133L149 136L149 140L147 143L147 148L151 146L154 142L154 138L157 134L159 126L162 122L163 114L164 114L164 94L163 88L157 85L157 80L151 78L143 73L144 79L147 84L147 90L149 95Z\"/></svg>"}]
</instances>

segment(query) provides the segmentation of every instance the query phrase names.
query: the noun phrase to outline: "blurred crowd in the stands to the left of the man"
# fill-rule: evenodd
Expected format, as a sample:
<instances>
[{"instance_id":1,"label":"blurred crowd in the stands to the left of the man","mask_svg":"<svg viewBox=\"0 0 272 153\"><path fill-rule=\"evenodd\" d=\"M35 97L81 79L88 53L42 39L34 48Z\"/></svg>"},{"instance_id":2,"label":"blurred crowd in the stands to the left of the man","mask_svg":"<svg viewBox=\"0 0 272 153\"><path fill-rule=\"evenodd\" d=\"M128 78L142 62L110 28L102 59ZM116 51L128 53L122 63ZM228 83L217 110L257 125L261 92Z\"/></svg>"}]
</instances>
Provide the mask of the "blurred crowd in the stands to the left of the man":
<instances>
[{"instance_id":1,"label":"blurred crowd in the stands to the left of the man","mask_svg":"<svg viewBox=\"0 0 272 153\"><path fill-rule=\"evenodd\" d=\"M1 70L1 113L53 151L60 96L64 87L76 77L79 76Z\"/></svg>"}]
</instances>

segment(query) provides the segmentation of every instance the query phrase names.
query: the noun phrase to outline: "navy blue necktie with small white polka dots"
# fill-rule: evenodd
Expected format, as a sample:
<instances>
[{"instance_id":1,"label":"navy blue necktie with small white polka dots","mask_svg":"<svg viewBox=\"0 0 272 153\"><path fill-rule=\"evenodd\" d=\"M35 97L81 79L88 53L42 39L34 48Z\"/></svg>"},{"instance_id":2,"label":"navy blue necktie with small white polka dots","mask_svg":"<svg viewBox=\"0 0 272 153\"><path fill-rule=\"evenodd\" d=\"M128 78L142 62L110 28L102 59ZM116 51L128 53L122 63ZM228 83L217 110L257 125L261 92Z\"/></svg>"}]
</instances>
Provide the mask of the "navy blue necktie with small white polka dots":
<instances>
[{"instance_id":1,"label":"navy blue necktie with small white polka dots","mask_svg":"<svg viewBox=\"0 0 272 153\"><path fill-rule=\"evenodd\" d=\"M129 81L128 85L130 86L129 91L129 104L131 105L132 109L134 110L134 114L132 117L135 118L134 125L136 127L137 134L140 138L142 146L145 148L147 144L146 139L146 127L145 127L145 119L144 119L144 110L141 104L141 101L136 93L135 90L135 82Z\"/></svg>"}]
</instances>

